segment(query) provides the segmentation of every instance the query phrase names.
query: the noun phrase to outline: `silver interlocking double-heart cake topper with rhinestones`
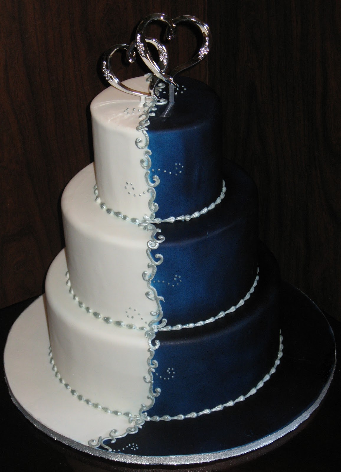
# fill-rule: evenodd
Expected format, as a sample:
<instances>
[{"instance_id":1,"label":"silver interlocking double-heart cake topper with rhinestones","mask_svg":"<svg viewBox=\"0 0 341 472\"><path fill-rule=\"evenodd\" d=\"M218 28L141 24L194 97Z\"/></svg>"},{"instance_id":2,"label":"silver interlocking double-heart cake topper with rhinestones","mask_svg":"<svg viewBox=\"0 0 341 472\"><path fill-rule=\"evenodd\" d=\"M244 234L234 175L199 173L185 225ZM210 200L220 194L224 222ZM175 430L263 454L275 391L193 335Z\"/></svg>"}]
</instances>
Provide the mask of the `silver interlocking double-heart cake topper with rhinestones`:
<instances>
[{"instance_id":1,"label":"silver interlocking double-heart cake topper with rhinestones","mask_svg":"<svg viewBox=\"0 0 341 472\"><path fill-rule=\"evenodd\" d=\"M163 23L166 23L166 38L168 40L172 40L174 38L176 28L179 23L189 22L193 25L196 25L203 35L203 42L199 51L197 51L196 54L194 54L194 56L187 62L175 67L172 71L170 71L169 74L166 73L166 70L168 69L169 65L169 57L166 47L160 41L145 35L145 28L154 21L161 21ZM153 56L149 50L149 44L152 44L153 47L157 50L157 62L153 59ZM126 54L129 62L134 62L136 60L137 51L141 59L144 61L145 65L152 72L152 77L149 84L149 95L158 99L156 90L157 83L159 82L159 80L162 80L163 82L169 84L170 92L172 91L174 95L173 87L174 85L176 85L176 83L174 82L174 76L176 74L179 74L179 72L188 69L188 67L192 67L193 65L201 61L208 54L211 44L212 37L209 27L205 25L205 23L200 21L198 18L191 17L189 15L183 15L172 19L162 13L154 13L153 15L145 17L137 26L135 41L133 41L130 45L116 44L104 53L102 71L109 84L113 85L119 90L122 90L127 93L132 93L133 95L145 96L145 92L133 90L127 87L126 85L122 84L115 76L111 67L111 58L113 54L119 49L125 49L127 51Z\"/></svg>"}]
</instances>

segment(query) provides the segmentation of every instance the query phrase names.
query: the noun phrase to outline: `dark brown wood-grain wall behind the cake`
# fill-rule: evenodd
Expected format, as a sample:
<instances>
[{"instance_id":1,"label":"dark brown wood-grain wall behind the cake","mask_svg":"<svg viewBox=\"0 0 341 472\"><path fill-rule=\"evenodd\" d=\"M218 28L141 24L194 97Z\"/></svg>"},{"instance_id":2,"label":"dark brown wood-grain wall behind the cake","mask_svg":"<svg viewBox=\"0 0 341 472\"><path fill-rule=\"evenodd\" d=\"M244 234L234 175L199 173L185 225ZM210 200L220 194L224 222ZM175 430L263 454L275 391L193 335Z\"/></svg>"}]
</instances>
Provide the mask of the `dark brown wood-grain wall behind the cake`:
<instances>
[{"instance_id":1,"label":"dark brown wood-grain wall behind the cake","mask_svg":"<svg viewBox=\"0 0 341 472\"><path fill-rule=\"evenodd\" d=\"M0 0L0 306L43 292L63 247L60 196L93 160L100 57L149 13L210 25L188 75L225 110L224 155L255 179L260 238L282 277L340 319L341 2ZM157 28L156 28L157 29ZM173 63L196 48L179 28ZM123 80L141 75L118 60Z\"/></svg>"}]
</instances>

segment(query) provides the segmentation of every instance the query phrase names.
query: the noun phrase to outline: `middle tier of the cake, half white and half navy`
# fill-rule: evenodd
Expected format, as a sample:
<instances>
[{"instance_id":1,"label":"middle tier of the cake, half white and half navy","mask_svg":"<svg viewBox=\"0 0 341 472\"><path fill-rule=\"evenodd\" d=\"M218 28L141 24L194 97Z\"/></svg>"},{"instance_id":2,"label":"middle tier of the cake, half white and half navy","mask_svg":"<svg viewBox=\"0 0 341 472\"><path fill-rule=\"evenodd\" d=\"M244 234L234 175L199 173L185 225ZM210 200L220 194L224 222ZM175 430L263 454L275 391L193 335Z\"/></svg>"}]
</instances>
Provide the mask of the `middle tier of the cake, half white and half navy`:
<instances>
[{"instance_id":1,"label":"middle tier of the cake, half white and half navy","mask_svg":"<svg viewBox=\"0 0 341 472\"><path fill-rule=\"evenodd\" d=\"M86 307L114 321L134 323L134 312L151 320L155 303L146 297L142 277L150 272L146 250L151 233L103 210L95 202L94 185L90 164L62 197L71 287ZM169 326L201 321L203 312L209 318L229 310L255 282L256 186L229 163L226 187L225 198L206 214L156 225L165 241L152 252L155 260L162 254L163 262L151 285L164 298L163 316Z\"/></svg>"}]
</instances>

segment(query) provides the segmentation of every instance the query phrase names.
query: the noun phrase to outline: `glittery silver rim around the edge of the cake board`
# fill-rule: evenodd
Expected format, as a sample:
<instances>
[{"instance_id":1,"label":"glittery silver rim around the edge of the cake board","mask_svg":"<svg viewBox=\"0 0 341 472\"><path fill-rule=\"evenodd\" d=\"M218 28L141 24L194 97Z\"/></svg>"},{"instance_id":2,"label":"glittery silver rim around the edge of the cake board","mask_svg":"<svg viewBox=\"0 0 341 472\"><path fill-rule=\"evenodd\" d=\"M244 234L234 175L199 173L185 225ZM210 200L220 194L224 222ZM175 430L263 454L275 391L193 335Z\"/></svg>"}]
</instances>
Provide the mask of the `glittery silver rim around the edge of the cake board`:
<instances>
[{"instance_id":1,"label":"glittery silver rim around the edge of the cake board","mask_svg":"<svg viewBox=\"0 0 341 472\"><path fill-rule=\"evenodd\" d=\"M298 289L296 289L298 291ZM298 291L300 292L300 291ZM300 292L300 294L304 297L306 297L307 300L308 297L303 294L303 292ZM310 301L310 300L309 300ZM310 301L311 302L311 301ZM44 296L40 296L37 300L34 301L34 303L44 305ZM29 310L32 305L32 303L26 310L20 315L20 317L25 316L25 312ZM313 303L313 302L311 302ZM316 307L316 305L314 304ZM317 307L316 307L317 308ZM324 314L322 312L321 316L324 317ZM325 319L325 317L324 317ZM329 326L328 321L325 319L326 323ZM329 327L330 328L330 327ZM12 327L13 329L13 327ZM332 332L332 330L331 330ZM47 341L48 342L48 341ZM334 346L335 346L335 340L334 340ZM5 349L6 350L6 349ZM47 356L47 354L46 354ZM315 412L315 410L319 407L321 404L322 400L324 399L324 396L327 393L328 388L330 387L330 384L332 382L332 378L334 375L336 367L336 353L335 353L335 358L334 358L334 363L332 366L331 373L329 375L329 378L327 379L326 383L324 384L324 387L322 388L319 396L315 399L315 401L305 410L303 411L298 417L296 417L293 421L291 421L289 424L287 424L285 427L281 428L280 430L277 430L267 436L264 436L263 438L260 438L256 441L244 444L239 447L232 447L229 449L224 449L216 452L207 452L207 453L200 453L200 454L189 454L189 455L133 455L133 454L125 454L125 453L116 453L116 452L110 452L110 451L105 451L102 449L95 449L93 447L86 446L85 444L81 442L77 442L76 440L72 438L68 438L67 436L63 436L62 434L48 428L45 426L41 421L38 419L34 418L30 413L27 412L25 406L23 406L16 398L16 396L13 394L11 388L9 387L9 380L6 375L6 369L5 369L5 379L6 383L9 389L9 394L11 396L11 399L18 408L18 410L26 417L28 421L30 421L38 430L41 430L43 433L46 435L50 436L53 439L56 439L60 441L61 443L65 444L68 447L72 447L74 449L77 449L81 452L84 452L86 454L90 454L93 456L97 457L102 457L104 459L109 459L112 461L116 462L122 462L122 463L127 463L127 464L141 464L141 465L186 465L186 464L198 464L198 463L208 463L208 462L213 462L213 461L219 461L223 459L229 459L233 457L238 457L241 455L246 455L247 453L251 453L253 451L256 451L257 449L260 449L265 446L269 446L275 441L283 438L290 432L296 430L298 426L300 426L303 422L307 421L307 419L311 416L312 413ZM52 371L50 372L51 376L53 377ZM75 405L78 405L78 402L75 402ZM219 414L219 413L218 413ZM138 435L143 433L143 428L141 431L139 431L136 435L136 438ZM134 435L135 436L135 435Z\"/></svg>"}]
</instances>

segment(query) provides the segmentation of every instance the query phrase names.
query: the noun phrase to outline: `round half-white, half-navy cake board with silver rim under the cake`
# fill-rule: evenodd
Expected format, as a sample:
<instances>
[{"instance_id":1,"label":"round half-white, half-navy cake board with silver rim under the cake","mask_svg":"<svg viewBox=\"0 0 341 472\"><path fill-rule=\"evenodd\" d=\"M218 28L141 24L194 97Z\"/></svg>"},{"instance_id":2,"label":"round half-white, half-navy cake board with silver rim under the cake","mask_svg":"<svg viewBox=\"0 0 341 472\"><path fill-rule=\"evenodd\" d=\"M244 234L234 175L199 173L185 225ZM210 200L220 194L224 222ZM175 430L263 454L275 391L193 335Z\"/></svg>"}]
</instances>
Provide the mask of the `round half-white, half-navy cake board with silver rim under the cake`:
<instances>
[{"instance_id":1,"label":"round half-white, half-navy cake board with silver rim under the cake","mask_svg":"<svg viewBox=\"0 0 341 472\"><path fill-rule=\"evenodd\" d=\"M112 451L87 445L97 439L94 431L111 429L111 415L79 402L51 370L43 295L12 326L4 353L5 373L12 400L26 418L70 447L132 464L210 462L283 438L323 400L336 362L332 329L316 305L287 284L281 287L281 332L281 363L255 395L195 419L145 422L136 434L113 444L108 441Z\"/></svg>"}]
</instances>

